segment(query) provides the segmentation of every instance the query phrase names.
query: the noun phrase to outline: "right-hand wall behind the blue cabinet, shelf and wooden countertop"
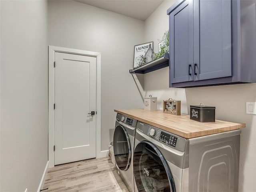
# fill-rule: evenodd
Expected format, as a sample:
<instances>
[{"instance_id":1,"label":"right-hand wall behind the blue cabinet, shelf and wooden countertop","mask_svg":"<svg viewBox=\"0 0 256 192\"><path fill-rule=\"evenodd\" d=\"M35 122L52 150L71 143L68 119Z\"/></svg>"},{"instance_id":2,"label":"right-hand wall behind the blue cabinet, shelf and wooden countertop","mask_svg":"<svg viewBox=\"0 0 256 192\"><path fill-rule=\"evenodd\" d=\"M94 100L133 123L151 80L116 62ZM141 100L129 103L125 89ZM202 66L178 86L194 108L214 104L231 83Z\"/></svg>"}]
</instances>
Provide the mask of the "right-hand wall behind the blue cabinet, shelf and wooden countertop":
<instances>
[{"instance_id":1,"label":"right-hand wall behind the blue cabinet, shelf and wooden countertop","mask_svg":"<svg viewBox=\"0 0 256 192\"><path fill-rule=\"evenodd\" d=\"M173 4L165 0L145 22L144 41L154 40L155 46L168 29L166 10ZM158 109L162 100L173 98L181 100L181 112L188 114L189 106L200 104L216 106L216 119L244 122L240 141L240 173L239 191L256 191L256 116L245 113L245 102L256 101L256 84L240 84L226 86L210 86L200 88L169 88L168 68L163 68L144 75L144 91L146 95L158 97Z\"/></svg>"}]
</instances>

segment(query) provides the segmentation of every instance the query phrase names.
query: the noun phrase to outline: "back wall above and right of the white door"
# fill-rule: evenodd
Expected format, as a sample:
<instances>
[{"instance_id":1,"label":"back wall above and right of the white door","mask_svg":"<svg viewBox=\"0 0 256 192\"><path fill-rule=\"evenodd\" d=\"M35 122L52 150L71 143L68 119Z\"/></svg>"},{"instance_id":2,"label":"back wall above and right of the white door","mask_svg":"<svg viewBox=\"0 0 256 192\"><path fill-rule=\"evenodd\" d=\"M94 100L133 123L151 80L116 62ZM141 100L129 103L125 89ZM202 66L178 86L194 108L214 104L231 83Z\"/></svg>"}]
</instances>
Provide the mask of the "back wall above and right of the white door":
<instances>
[{"instance_id":1,"label":"back wall above and right of the white door","mask_svg":"<svg viewBox=\"0 0 256 192\"><path fill-rule=\"evenodd\" d=\"M49 1L48 44L101 52L101 150L114 133L115 108L143 107L129 69L144 22L76 1Z\"/></svg>"}]
</instances>

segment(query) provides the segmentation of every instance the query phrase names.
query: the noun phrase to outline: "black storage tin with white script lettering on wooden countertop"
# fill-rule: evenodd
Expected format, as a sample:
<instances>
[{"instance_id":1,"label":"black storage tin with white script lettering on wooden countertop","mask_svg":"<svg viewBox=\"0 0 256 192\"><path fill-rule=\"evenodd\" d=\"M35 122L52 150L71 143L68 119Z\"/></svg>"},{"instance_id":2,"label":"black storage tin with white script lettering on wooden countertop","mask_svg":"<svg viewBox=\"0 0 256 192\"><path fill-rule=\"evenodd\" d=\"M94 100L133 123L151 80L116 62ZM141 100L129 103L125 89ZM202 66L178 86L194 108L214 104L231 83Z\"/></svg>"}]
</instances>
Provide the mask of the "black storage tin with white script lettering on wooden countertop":
<instances>
[{"instance_id":1,"label":"black storage tin with white script lettering on wooden countertop","mask_svg":"<svg viewBox=\"0 0 256 192\"><path fill-rule=\"evenodd\" d=\"M199 122L215 122L215 107L190 105L190 119Z\"/></svg>"}]
</instances>

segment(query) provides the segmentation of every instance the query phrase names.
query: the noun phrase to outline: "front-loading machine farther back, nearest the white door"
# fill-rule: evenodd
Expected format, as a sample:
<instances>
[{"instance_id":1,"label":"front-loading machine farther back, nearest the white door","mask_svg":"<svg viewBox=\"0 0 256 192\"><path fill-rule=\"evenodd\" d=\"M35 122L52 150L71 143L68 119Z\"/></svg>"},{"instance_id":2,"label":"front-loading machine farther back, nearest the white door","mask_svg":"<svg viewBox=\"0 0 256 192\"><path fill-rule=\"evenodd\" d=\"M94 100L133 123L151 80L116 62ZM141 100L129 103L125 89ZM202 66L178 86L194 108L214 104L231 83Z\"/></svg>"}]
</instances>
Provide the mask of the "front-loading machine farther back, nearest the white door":
<instances>
[{"instance_id":1,"label":"front-loading machine farther back, nearest the white door","mask_svg":"<svg viewBox=\"0 0 256 192\"><path fill-rule=\"evenodd\" d=\"M133 151L137 120L116 115L113 137L116 170L130 192L134 192Z\"/></svg>"}]
</instances>

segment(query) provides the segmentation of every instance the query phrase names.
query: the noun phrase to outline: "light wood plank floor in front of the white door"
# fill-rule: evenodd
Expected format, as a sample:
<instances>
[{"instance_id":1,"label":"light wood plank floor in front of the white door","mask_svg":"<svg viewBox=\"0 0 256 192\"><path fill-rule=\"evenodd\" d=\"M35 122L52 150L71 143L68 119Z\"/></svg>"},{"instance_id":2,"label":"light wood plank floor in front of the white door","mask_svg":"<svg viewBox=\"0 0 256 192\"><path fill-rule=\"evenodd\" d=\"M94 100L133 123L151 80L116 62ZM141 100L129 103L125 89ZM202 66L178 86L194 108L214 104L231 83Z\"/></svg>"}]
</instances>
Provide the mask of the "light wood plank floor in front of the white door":
<instances>
[{"instance_id":1,"label":"light wood plank floor in front of the white door","mask_svg":"<svg viewBox=\"0 0 256 192\"><path fill-rule=\"evenodd\" d=\"M129 192L108 157L49 168L45 188L42 192Z\"/></svg>"}]
</instances>

